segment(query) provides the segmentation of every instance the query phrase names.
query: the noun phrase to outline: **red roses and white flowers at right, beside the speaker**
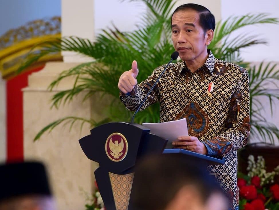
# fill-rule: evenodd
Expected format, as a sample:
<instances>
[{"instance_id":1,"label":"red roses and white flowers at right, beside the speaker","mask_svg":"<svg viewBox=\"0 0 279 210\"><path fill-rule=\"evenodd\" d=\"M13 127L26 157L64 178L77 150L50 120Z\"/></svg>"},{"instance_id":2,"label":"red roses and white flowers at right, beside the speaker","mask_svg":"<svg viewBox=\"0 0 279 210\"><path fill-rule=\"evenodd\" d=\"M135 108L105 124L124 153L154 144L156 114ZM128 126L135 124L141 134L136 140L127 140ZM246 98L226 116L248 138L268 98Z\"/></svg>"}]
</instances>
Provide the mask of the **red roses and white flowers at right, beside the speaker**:
<instances>
[{"instance_id":1,"label":"red roses and white flowers at right, beside the speaker","mask_svg":"<svg viewBox=\"0 0 279 210\"><path fill-rule=\"evenodd\" d=\"M279 210L279 184L274 183L274 176L279 174L279 165L266 172L265 160L258 156L248 157L248 174L238 173L239 209L244 210Z\"/></svg>"}]
</instances>

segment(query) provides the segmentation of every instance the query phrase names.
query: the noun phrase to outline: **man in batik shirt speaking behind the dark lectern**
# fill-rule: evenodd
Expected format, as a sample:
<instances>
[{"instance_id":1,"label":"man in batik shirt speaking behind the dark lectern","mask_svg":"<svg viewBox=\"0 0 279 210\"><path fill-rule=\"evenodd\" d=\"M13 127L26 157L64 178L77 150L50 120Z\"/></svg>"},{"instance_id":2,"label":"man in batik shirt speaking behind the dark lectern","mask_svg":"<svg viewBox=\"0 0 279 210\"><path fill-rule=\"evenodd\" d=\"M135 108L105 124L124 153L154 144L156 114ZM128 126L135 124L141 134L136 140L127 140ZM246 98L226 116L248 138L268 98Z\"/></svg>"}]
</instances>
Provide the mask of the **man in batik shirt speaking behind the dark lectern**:
<instances>
[{"instance_id":1,"label":"man in batik shirt speaking behind the dark lectern","mask_svg":"<svg viewBox=\"0 0 279 210\"><path fill-rule=\"evenodd\" d=\"M181 5L172 15L171 26L172 42L182 61L170 64L141 110L160 102L161 122L187 119L189 136L173 142L175 148L225 158L224 165L208 169L229 196L230 208L237 209L237 150L247 144L250 131L248 72L218 60L207 49L215 29L215 18L207 8ZM120 76L120 99L129 110L138 108L164 67L138 85L136 61Z\"/></svg>"}]
</instances>

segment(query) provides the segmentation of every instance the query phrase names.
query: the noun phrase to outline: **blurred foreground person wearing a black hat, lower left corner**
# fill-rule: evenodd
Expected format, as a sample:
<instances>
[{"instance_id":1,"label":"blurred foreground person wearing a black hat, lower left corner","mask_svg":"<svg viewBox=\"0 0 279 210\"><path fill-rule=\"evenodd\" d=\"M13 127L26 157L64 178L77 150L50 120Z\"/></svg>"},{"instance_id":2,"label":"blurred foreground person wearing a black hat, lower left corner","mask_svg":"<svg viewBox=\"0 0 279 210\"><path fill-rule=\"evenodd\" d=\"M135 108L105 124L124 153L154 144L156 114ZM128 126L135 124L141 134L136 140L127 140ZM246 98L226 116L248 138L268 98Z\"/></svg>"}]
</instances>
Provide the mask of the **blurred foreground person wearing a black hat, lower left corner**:
<instances>
[{"instance_id":1,"label":"blurred foreground person wearing a black hat, lower left corner","mask_svg":"<svg viewBox=\"0 0 279 210\"><path fill-rule=\"evenodd\" d=\"M45 167L40 162L0 165L0 210L55 210Z\"/></svg>"}]
</instances>

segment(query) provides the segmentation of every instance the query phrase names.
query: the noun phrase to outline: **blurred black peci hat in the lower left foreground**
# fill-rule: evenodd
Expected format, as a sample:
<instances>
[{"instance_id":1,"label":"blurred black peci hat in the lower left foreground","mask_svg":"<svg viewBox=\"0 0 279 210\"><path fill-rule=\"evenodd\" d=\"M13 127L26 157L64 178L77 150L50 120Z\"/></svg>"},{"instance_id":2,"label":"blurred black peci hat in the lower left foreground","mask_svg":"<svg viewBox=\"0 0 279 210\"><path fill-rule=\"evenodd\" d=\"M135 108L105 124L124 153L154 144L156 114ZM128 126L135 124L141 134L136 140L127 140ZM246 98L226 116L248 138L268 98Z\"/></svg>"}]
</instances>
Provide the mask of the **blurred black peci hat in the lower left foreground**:
<instances>
[{"instance_id":1,"label":"blurred black peci hat in the lower left foreground","mask_svg":"<svg viewBox=\"0 0 279 210\"><path fill-rule=\"evenodd\" d=\"M0 165L0 201L22 195L51 195L46 169L42 163Z\"/></svg>"}]
</instances>

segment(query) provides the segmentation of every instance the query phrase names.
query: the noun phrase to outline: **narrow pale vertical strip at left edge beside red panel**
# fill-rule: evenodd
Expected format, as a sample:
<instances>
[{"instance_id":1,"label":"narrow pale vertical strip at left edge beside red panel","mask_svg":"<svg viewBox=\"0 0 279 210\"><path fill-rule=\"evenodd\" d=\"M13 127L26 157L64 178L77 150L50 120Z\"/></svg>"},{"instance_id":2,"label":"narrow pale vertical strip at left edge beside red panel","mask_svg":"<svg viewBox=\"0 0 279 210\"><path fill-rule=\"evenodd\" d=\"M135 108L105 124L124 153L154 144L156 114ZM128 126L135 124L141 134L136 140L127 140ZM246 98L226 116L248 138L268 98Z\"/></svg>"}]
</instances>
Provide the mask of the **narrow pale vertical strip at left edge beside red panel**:
<instances>
[{"instance_id":1,"label":"narrow pale vertical strip at left edge beside red panel","mask_svg":"<svg viewBox=\"0 0 279 210\"><path fill-rule=\"evenodd\" d=\"M0 162L6 161L6 81L0 77Z\"/></svg>"}]
</instances>

